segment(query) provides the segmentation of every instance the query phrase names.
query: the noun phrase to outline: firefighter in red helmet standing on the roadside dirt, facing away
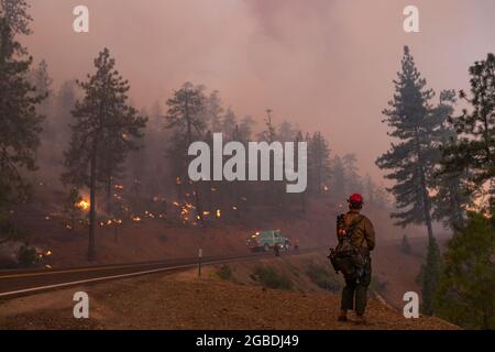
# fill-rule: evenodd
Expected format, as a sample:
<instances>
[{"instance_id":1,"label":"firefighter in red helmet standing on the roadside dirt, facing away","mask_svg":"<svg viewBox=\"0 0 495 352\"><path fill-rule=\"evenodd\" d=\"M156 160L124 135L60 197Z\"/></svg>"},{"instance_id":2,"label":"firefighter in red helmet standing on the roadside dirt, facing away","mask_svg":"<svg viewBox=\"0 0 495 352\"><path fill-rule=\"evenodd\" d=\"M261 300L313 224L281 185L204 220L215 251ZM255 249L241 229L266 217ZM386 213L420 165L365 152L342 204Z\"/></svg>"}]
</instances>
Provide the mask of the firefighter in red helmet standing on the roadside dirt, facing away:
<instances>
[{"instance_id":1,"label":"firefighter in red helmet standing on the roadside dirt, facing away","mask_svg":"<svg viewBox=\"0 0 495 352\"><path fill-rule=\"evenodd\" d=\"M353 194L348 199L349 211L344 215L345 227L352 227L352 245L362 254L363 265L354 275L344 276L345 287L342 289L341 311L339 321L348 320L348 310L355 310L356 322L365 323L364 311L367 302L367 287L370 286L372 267L370 252L375 248L375 231L373 223L361 215L363 197Z\"/></svg>"}]
</instances>

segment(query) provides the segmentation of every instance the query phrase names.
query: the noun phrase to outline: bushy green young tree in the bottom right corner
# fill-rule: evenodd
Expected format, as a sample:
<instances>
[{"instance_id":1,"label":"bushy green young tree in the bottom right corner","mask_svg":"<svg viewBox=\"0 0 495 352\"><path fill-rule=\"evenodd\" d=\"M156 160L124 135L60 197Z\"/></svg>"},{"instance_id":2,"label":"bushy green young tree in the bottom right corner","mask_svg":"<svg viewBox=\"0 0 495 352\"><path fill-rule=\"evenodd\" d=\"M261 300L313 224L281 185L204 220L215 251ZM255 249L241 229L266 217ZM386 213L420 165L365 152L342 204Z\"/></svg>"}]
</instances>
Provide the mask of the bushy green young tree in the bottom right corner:
<instances>
[{"instance_id":1,"label":"bushy green young tree in the bottom right corner","mask_svg":"<svg viewBox=\"0 0 495 352\"><path fill-rule=\"evenodd\" d=\"M438 316L466 329L495 329L494 239L494 219L470 212L444 254Z\"/></svg>"}]
</instances>

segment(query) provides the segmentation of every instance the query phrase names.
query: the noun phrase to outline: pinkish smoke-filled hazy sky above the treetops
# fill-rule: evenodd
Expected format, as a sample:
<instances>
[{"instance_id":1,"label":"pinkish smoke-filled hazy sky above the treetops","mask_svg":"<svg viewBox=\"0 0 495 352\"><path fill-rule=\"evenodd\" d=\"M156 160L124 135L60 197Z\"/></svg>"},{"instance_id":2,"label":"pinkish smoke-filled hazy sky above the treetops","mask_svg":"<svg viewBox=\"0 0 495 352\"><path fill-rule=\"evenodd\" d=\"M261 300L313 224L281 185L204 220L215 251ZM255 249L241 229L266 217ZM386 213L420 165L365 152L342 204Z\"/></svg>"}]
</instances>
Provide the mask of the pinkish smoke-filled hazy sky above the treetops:
<instances>
[{"instance_id":1,"label":"pinkish smoke-filled hazy sky above the treetops","mask_svg":"<svg viewBox=\"0 0 495 352\"><path fill-rule=\"evenodd\" d=\"M31 0L34 34L58 86L84 78L108 46L138 107L164 102L184 81L218 89L240 116L320 130L333 152L356 153L378 178L388 148L381 111L392 98L403 46L436 90L468 87L468 67L495 51L493 0ZM90 11L76 34L73 9ZM419 8L420 33L403 31Z\"/></svg>"}]
</instances>

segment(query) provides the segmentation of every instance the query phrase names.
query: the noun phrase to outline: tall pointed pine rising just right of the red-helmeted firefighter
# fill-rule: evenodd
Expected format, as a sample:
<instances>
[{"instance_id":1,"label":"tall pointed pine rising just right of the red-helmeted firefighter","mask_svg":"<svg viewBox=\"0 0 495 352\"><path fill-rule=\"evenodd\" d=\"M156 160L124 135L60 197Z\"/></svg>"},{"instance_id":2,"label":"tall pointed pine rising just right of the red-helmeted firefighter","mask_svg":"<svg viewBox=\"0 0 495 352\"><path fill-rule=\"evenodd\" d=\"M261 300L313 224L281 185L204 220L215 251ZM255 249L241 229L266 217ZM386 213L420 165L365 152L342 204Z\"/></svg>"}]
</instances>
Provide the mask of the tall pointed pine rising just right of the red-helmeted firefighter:
<instances>
[{"instance_id":1,"label":"tall pointed pine rising just right of the red-helmeted firefighter","mask_svg":"<svg viewBox=\"0 0 495 352\"><path fill-rule=\"evenodd\" d=\"M396 182L388 188L398 208L392 213L397 219L396 223L402 227L425 223L431 238L433 228L429 187L438 162L431 142L438 125L430 114L429 101L433 92L426 88L426 79L421 78L407 46L404 48L402 72L394 84L396 92L383 114L384 122L392 128L389 135L398 143L392 143L391 150L380 156L376 164L381 169L392 170L386 178Z\"/></svg>"}]
</instances>

